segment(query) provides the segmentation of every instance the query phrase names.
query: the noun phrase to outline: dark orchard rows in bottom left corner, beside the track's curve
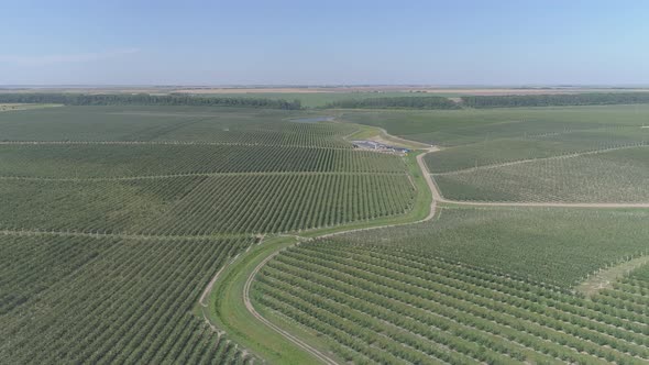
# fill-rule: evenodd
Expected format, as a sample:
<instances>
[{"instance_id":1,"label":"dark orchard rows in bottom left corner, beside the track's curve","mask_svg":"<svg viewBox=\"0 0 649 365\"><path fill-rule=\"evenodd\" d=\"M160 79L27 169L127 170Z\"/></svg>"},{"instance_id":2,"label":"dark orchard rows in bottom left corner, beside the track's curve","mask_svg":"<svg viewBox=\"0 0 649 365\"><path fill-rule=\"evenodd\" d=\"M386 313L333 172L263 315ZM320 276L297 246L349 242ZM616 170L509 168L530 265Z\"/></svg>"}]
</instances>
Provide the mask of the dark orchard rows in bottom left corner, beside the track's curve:
<instances>
[{"instance_id":1,"label":"dark orchard rows in bottom left corner, beside the track's curve","mask_svg":"<svg viewBox=\"0 0 649 365\"><path fill-rule=\"evenodd\" d=\"M249 363L190 311L252 243L0 236L0 363Z\"/></svg>"}]
</instances>

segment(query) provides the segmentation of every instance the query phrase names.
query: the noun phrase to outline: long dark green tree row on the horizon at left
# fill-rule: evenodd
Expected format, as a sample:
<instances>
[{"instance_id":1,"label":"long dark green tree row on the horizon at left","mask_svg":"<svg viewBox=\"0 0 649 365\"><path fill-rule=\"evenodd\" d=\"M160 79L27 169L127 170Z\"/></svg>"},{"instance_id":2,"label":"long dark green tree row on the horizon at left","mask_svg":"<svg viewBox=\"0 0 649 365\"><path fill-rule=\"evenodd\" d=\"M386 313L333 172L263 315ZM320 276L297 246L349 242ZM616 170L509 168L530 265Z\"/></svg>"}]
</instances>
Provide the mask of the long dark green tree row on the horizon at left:
<instances>
[{"instance_id":1,"label":"long dark green tree row on the horizon at left","mask_svg":"<svg viewBox=\"0 0 649 365\"><path fill-rule=\"evenodd\" d=\"M0 93L0 103L57 103L66 106L205 106L301 109L299 100L263 98L194 97L187 95L153 96L148 93Z\"/></svg>"}]
</instances>

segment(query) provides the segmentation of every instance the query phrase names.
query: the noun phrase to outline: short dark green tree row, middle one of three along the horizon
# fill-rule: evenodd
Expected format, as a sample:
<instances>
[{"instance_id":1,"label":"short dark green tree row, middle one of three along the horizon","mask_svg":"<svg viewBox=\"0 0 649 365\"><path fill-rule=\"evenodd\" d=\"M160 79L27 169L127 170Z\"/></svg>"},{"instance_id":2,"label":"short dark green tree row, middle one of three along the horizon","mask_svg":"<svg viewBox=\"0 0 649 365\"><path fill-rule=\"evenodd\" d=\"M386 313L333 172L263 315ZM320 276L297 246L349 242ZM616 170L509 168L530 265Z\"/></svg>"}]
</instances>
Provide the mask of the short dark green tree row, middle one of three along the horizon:
<instances>
[{"instance_id":1,"label":"short dark green tree row, middle one of three along the horizon","mask_svg":"<svg viewBox=\"0 0 649 365\"><path fill-rule=\"evenodd\" d=\"M330 102L326 108L353 109L459 109L458 103L443 97L386 97L348 99Z\"/></svg>"}]
</instances>

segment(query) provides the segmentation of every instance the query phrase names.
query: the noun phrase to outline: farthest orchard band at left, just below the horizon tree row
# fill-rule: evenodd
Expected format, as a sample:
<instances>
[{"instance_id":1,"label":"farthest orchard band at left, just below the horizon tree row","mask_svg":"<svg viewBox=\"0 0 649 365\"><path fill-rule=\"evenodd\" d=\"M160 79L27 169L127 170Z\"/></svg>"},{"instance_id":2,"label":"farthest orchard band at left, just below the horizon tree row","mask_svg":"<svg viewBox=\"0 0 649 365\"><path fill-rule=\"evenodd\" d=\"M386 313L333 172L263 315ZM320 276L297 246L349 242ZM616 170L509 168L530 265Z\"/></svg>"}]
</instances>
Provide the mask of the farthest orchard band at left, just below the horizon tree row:
<instances>
[{"instance_id":1,"label":"farthest orchard band at left, just below the horizon tree row","mask_svg":"<svg viewBox=\"0 0 649 365\"><path fill-rule=\"evenodd\" d=\"M188 141L345 147L354 131L294 123L287 111L180 107L62 107L0 115L2 141ZM25 128L28 126L28 128Z\"/></svg>"}]
</instances>

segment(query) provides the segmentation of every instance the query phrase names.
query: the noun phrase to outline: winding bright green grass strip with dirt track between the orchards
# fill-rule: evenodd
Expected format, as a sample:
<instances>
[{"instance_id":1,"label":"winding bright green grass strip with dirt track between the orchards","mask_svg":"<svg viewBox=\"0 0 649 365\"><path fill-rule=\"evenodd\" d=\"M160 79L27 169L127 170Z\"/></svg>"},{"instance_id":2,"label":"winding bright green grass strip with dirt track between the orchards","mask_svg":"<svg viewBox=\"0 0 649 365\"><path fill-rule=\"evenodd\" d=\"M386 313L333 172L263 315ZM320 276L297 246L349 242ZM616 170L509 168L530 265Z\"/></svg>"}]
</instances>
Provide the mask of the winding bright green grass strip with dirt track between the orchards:
<instances>
[{"instance_id":1,"label":"winding bright green grass strip with dirt track between the orchards","mask_svg":"<svg viewBox=\"0 0 649 365\"><path fill-rule=\"evenodd\" d=\"M324 344L320 343L317 336L304 329L287 325L264 309L254 307L254 303L250 301L250 287L255 274L267 261L282 250L298 244L302 240L413 224L432 219L436 201L431 195L432 180L427 178L429 175L425 169L422 159L425 154L426 152L419 152L405 157L411 182L417 189L417 199L407 214L337 228L315 229L301 232L299 235L280 235L263 242L234 259L212 278L197 306L205 319L223 330L230 339L270 363L343 363L326 352Z\"/></svg>"}]
</instances>

